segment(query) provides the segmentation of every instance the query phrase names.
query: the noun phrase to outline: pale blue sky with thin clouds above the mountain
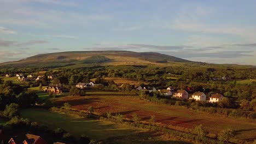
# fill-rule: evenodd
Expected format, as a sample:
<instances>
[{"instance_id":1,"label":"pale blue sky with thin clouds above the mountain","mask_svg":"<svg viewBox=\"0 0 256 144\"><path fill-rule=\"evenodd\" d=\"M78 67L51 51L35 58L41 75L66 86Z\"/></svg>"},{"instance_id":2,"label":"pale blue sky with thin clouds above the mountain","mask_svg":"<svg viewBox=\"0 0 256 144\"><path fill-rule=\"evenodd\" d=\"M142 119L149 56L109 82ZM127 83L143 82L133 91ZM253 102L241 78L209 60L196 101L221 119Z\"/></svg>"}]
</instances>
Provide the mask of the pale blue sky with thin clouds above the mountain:
<instances>
[{"instance_id":1,"label":"pale blue sky with thin clouds above the mountain","mask_svg":"<svg viewBox=\"0 0 256 144\"><path fill-rule=\"evenodd\" d=\"M127 50L256 65L255 14L254 0L0 0L0 62Z\"/></svg>"}]
</instances>

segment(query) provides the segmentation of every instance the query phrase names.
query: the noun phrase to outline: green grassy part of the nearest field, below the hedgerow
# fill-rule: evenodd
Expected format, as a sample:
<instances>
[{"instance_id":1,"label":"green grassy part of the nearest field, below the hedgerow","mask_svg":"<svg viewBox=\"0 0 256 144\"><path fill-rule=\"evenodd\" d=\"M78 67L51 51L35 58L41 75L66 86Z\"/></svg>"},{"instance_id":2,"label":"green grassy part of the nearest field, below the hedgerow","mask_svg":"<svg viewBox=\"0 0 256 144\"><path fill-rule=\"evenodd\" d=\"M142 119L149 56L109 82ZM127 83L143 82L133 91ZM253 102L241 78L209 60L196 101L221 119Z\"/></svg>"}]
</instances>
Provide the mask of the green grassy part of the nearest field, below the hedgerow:
<instances>
[{"instance_id":1,"label":"green grassy part of the nearest field, below the hedgerow","mask_svg":"<svg viewBox=\"0 0 256 144\"><path fill-rule=\"evenodd\" d=\"M101 140L112 136L129 135L138 132L136 129L120 127L108 122L71 117L43 109L25 109L21 111L20 115L24 118L30 118L32 122L44 124L53 130L63 128L77 138L81 135L86 135L91 139Z\"/></svg>"}]
</instances>

